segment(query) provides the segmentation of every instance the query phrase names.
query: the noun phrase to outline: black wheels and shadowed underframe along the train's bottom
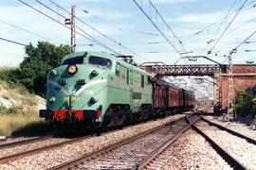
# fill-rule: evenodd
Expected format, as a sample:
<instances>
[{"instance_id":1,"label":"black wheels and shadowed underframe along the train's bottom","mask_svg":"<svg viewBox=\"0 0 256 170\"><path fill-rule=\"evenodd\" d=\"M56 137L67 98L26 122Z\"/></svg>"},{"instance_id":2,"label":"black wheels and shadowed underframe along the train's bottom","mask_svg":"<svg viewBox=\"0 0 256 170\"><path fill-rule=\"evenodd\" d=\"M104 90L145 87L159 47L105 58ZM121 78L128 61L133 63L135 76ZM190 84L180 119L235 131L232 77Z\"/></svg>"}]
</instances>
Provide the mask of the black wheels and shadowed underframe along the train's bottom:
<instances>
[{"instance_id":1,"label":"black wheels and shadowed underframe along the train's bottom","mask_svg":"<svg viewBox=\"0 0 256 170\"><path fill-rule=\"evenodd\" d=\"M165 117L169 114L191 110L192 107L187 108L152 108L152 105L145 104L140 109L133 113L129 105L115 105L112 104L106 110L103 116L103 122L97 122L96 110L84 110L86 112L82 120L79 120L72 110L65 112L63 119L46 119L54 127L60 127L62 130L96 128L102 130L106 127L122 127L124 125L135 124L158 117Z\"/></svg>"}]
</instances>

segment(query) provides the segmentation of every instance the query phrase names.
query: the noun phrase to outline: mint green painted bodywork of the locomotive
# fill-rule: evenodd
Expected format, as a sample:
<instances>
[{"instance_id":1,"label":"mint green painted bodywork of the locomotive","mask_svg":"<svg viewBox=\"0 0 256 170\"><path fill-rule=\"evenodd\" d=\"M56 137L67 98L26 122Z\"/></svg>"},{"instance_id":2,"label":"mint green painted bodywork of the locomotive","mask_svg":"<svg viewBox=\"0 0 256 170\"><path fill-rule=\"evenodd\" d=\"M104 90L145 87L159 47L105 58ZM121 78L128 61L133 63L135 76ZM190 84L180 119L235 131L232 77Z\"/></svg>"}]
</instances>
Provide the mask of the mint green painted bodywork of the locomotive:
<instances>
[{"instance_id":1,"label":"mint green painted bodywork of the locomotive","mask_svg":"<svg viewBox=\"0 0 256 170\"><path fill-rule=\"evenodd\" d=\"M111 60L111 68L90 64L90 56ZM145 71L105 52L73 53L65 56L63 62L76 57L83 57L82 63L76 64L76 74L66 72L68 65L49 72L54 74L48 74L47 110L68 109L68 95L72 96L72 110L97 110L101 105L104 113L111 104L128 104L133 112L137 112L142 104L152 104L152 86ZM85 81L84 85L78 83L80 79ZM59 83L61 80L62 85ZM49 100L52 97L55 101ZM97 102L91 103L92 97Z\"/></svg>"}]
</instances>

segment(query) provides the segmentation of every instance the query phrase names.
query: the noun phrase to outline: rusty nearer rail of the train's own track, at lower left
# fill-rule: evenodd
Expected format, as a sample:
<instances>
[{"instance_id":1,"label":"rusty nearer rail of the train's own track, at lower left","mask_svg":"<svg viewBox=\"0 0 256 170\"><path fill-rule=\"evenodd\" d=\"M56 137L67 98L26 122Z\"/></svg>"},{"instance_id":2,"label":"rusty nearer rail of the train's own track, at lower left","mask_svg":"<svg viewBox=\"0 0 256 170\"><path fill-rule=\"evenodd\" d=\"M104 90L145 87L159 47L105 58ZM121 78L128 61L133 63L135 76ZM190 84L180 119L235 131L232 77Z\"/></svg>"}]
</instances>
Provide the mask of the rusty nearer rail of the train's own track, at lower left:
<instances>
[{"instance_id":1,"label":"rusty nearer rail of the train's own track, at lower left","mask_svg":"<svg viewBox=\"0 0 256 170\"><path fill-rule=\"evenodd\" d=\"M6 162L9 162L9 161L14 161L14 160L17 160L21 157L26 157L26 156L31 155L31 154L37 154L37 153L40 153L42 151L46 151L46 150L50 150L50 149L53 149L53 148L56 148L56 147L63 146L64 144L78 143L78 142L80 142L82 140L85 140L87 138L90 138L90 137L91 136L84 136L84 137L72 139L72 140L69 140L69 141L64 141L64 142L57 143L57 144L50 144L50 145L46 145L46 146L43 146L43 147L27 150L27 151L24 151L24 152L15 153L15 154L0 158L0 163L6 163Z\"/></svg>"}]
</instances>

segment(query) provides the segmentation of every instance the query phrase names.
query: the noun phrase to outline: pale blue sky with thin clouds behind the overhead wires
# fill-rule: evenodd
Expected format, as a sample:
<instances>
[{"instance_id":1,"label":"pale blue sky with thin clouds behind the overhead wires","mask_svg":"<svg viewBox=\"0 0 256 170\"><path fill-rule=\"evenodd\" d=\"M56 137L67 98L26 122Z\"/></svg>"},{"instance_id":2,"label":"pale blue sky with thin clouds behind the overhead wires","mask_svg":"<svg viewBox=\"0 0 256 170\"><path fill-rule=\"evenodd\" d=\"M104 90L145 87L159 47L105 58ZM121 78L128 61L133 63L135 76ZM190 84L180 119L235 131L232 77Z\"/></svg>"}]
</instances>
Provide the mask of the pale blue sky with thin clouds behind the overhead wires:
<instances>
[{"instance_id":1,"label":"pale blue sky with thin clouds behind the overhead wires","mask_svg":"<svg viewBox=\"0 0 256 170\"><path fill-rule=\"evenodd\" d=\"M61 13L65 18L70 17L67 12L49 0L23 1L60 23L64 23L64 18L45 8L39 2ZM76 16L83 23L93 26L117 43L109 41L78 20L77 26L112 50L123 55L135 56L138 63L145 61L163 61L166 64L211 63L207 59L196 61L180 59L181 56L198 55L223 63L227 60L225 56L228 56L233 48L252 34L256 27L255 0L152 0L155 8L174 34L162 24L159 16L155 15L148 0L137 0L143 9L150 13L156 26L171 43L160 35L133 0L54 0L53 2L68 11L72 5L76 5ZM244 2L247 2L245 8L242 8L234 17ZM227 14L229 17L226 17ZM223 19L225 19L224 22L220 22ZM48 41L56 45L70 43L70 29L51 21L18 0L0 1L0 26L0 38L15 42L24 44L32 42L34 45L38 41ZM13 26L26 29L26 31ZM77 29L77 31L80 30ZM80 33L84 35L83 32L80 31ZM76 38L77 51L111 52L95 42L90 42L84 36L77 34ZM182 42L184 48L179 41ZM246 63L247 60L256 62L255 51L253 51L256 50L255 41L256 36L253 35L247 41L249 43L242 44L237 49L237 53L232 55L233 62ZM212 48L215 42L216 45ZM91 43L93 45L89 46L88 44ZM119 43L129 50L119 46ZM211 48L211 54L208 55ZM250 52L245 52L245 50L250 50ZM18 66L25 57L24 46L0 40L0 66Z\"/></svg>"}]
</instances>

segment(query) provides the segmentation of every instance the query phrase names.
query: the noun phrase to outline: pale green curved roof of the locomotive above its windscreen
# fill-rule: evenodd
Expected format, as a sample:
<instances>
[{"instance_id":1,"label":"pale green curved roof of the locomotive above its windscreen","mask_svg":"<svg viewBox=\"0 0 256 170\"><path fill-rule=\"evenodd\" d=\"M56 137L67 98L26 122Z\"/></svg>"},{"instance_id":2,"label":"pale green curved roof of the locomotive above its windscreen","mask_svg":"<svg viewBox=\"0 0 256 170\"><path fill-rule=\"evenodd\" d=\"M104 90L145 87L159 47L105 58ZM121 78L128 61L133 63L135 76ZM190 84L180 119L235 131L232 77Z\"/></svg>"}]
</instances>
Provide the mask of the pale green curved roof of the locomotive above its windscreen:
<instances>
[{"instance_id":1,"label":"pale green curved roof of the locomotive above its windscreen","mask_svg":"<svg viewBox=\"0 0 256 170\"><path fill-rule=\"evenodd\" d=\"M147 73L146 71L140 69L139 67L135 66L135 65L132 65L128 62L125 62L124 60L122 59L119 59L117 58L116 56L112 55L112 54L109 54L107 52L98 52L98 51L82 51L82 52L75 52L75 53L71 53L69 55L66 55L64 56L64 58L62 59L62 62L65 60L65 59L71 59L71 58L75 58L75 57L80 57L80 56L99 56L99 57L102 57L102 58L106 58L106 59L111 59L111 60L116 60L118 61L119 63L121 63L121 65L125 66L125 67L128 67L128 68L132 68L133 70L137 71L137 72L140 72L140 73L143 73L145 75L148 75L150 76L149 73Z\"/></svg>"}]
</instances>

